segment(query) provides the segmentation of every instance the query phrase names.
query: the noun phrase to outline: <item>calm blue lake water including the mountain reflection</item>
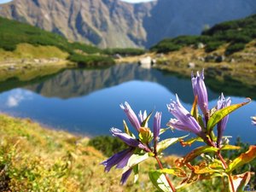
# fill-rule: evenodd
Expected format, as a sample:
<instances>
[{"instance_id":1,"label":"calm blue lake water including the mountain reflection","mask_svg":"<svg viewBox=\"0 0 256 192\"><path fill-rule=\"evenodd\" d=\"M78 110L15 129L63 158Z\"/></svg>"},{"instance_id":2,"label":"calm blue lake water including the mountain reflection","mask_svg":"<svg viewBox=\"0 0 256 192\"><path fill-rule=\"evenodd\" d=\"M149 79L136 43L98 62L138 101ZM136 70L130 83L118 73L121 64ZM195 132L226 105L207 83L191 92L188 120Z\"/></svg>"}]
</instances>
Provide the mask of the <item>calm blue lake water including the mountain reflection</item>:
<instances>
[{"instance_id":1,"label":"calm blue lake water including the mountain reflection","mask_svg":"<svg viewBox=\"0 0 256 192\"><path fill-rule=\"evenodd\" d=\"M55 129L82 133L88 136L109 135L109 128L123 129L125 113L119 108L129 102L136 113L140 109L162 111L162 126L172 117L166 103L180 97L190 110L193 93L190 79L137 65L120 65L102 70L66 70L55 76L33 82L12 80L0 84L0 111L18 117L28 117ZM221 93L208 89L210 107ZM224 93L225 94L225 93ZM245 98L230 96L233 103ZM230 115L225 135L255 143L256 127L250 116L256 114L256 102ZM152 122L151 124L152 125ZM183 131L166 132L162 138L185 135ZM188 148L176 145L170 153L183 154Z\"/></svg>"}]
</instances>

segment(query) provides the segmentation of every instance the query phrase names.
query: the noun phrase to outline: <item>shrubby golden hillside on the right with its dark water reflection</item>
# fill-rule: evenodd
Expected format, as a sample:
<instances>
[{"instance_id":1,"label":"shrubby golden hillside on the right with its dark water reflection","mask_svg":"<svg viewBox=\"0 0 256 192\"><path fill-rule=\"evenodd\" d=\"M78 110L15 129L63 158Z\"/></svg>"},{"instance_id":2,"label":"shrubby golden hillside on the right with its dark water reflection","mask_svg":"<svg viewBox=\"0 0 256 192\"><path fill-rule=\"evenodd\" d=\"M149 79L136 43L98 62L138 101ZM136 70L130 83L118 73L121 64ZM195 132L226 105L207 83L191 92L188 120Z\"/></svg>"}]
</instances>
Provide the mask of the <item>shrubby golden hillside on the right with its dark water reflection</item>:
<instances>
[{"instance_id":1,"label":"shrubby golden hillside on the right with its dark water reflection","mask_svg":"<svg viewBox=\"0 0 256 192\"><path fill-rule=\"evenodd\" d=\"M151 51L156 52L156 67L162 70L189 77L191 70L205 68L212 85L224 86L227 92L233 89L237 93L253 93L256 90L255 28L256 15L252 15L212 26L201 36L166 38Z\"/></svg>"}]
</instances>

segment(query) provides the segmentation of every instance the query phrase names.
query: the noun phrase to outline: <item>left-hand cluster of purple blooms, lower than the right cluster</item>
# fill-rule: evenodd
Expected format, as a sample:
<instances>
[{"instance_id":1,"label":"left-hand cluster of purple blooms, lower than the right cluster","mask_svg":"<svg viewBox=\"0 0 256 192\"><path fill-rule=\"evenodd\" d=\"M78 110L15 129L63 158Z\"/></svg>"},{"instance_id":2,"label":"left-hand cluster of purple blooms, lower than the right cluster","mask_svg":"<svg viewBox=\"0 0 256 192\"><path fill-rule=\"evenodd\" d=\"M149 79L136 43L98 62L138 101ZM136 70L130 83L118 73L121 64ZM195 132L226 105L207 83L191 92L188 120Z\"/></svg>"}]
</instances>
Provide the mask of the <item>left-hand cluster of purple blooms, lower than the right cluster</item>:
<instances>
[{"instance_id":1,"label":"left-hand cluster of purple blooms, lower than the right cluster","mask_svg":"<svg viewBox=\"0 0 256 192\"><path fill-rule=\"evenodd\" d=\"M111 128L111 133L113 137L119 137L124 143L126 143L129 148L117 153L113 154L108 160L104 160L102 165L105 166L105 171L109 172L110 169L115 166L116 168L123 169L127 166L128 160L131 158L131 155L134 154L138 149L142 150L145 153L153 153L154 149L157 146L157 141L160 134L160 121L161 121L161 113L156 112L154 116L154 134L152 138L152 132L149 130L148 126L148 116L147 112L140 111L137 115L132 110L131 106L128 102L125 102L125 105L121 104L120 108L122 108L129 119L131 125L137 130L140 138L136 138L130 131L123 132L117 128ZM126 124L125 124L126 125ZM130 135L129 135L130 134ZM154 149L149 147L149 143L151 140L154 140ZM125 171L121 177L121 183L124 184L127 178L130 176L132 172L132 167L129 167L127 171Z\"/></svg>"}]
</instances>

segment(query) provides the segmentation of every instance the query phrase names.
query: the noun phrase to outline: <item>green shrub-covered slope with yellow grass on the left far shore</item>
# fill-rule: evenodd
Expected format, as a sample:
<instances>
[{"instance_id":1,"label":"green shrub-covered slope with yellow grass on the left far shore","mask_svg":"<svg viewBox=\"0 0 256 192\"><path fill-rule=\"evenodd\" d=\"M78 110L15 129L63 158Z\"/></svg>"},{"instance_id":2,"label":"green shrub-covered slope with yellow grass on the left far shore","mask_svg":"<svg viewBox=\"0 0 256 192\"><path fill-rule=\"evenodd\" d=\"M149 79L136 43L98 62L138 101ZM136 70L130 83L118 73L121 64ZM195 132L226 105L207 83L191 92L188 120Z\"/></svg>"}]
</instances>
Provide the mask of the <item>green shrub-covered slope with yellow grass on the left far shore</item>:
<instances>
[{"instance_id":1,"label":"green shrub-covered slope with yellow grass on the left far shore","mask_svg":"<svg viewBox=\"0 0 256 192\"><path fill-rule=\"evenodd\" d=\"M20 47L22 47L22 51L20 51ZM24 47L25 49L23 49ZM55 50L53 51L53 49ZM0 52L3 53L2 60L4 57L40 58L45 55L47 57L60 55L62 59L69 59L84 66L95 65L98 67L114 63L109 56L102 56L102 49L95 46L78 42L70 43L67 38L55 33L45 32L38 27L2 17L0 17Z\"/></svg>"}]
</instances>

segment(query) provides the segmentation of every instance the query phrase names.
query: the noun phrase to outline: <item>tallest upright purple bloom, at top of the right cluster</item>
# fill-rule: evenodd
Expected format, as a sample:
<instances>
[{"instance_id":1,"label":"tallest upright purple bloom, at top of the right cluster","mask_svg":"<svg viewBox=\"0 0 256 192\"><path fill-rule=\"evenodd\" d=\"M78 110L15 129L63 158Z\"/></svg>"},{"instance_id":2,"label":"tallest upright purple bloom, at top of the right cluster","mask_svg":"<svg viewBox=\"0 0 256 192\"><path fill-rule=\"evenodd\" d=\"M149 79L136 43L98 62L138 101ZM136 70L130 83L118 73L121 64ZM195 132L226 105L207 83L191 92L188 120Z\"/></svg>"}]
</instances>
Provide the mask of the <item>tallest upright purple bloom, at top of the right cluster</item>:
<instances>
[{"instance_id":1,"label":"tallest upright purple bloom, at top of the right cluster","mask_svg":"<svg viewBox=\"0 0 256 192\"><path fill-rule=\"evenodd\" d=\"M197 72L196 77L191 73L194 96L197 96L198 105L201 108L202 113L206 116L208 113L208 96L204 79L204 70L201 71L201 74Z\"/></svg>"}]
</instances>

